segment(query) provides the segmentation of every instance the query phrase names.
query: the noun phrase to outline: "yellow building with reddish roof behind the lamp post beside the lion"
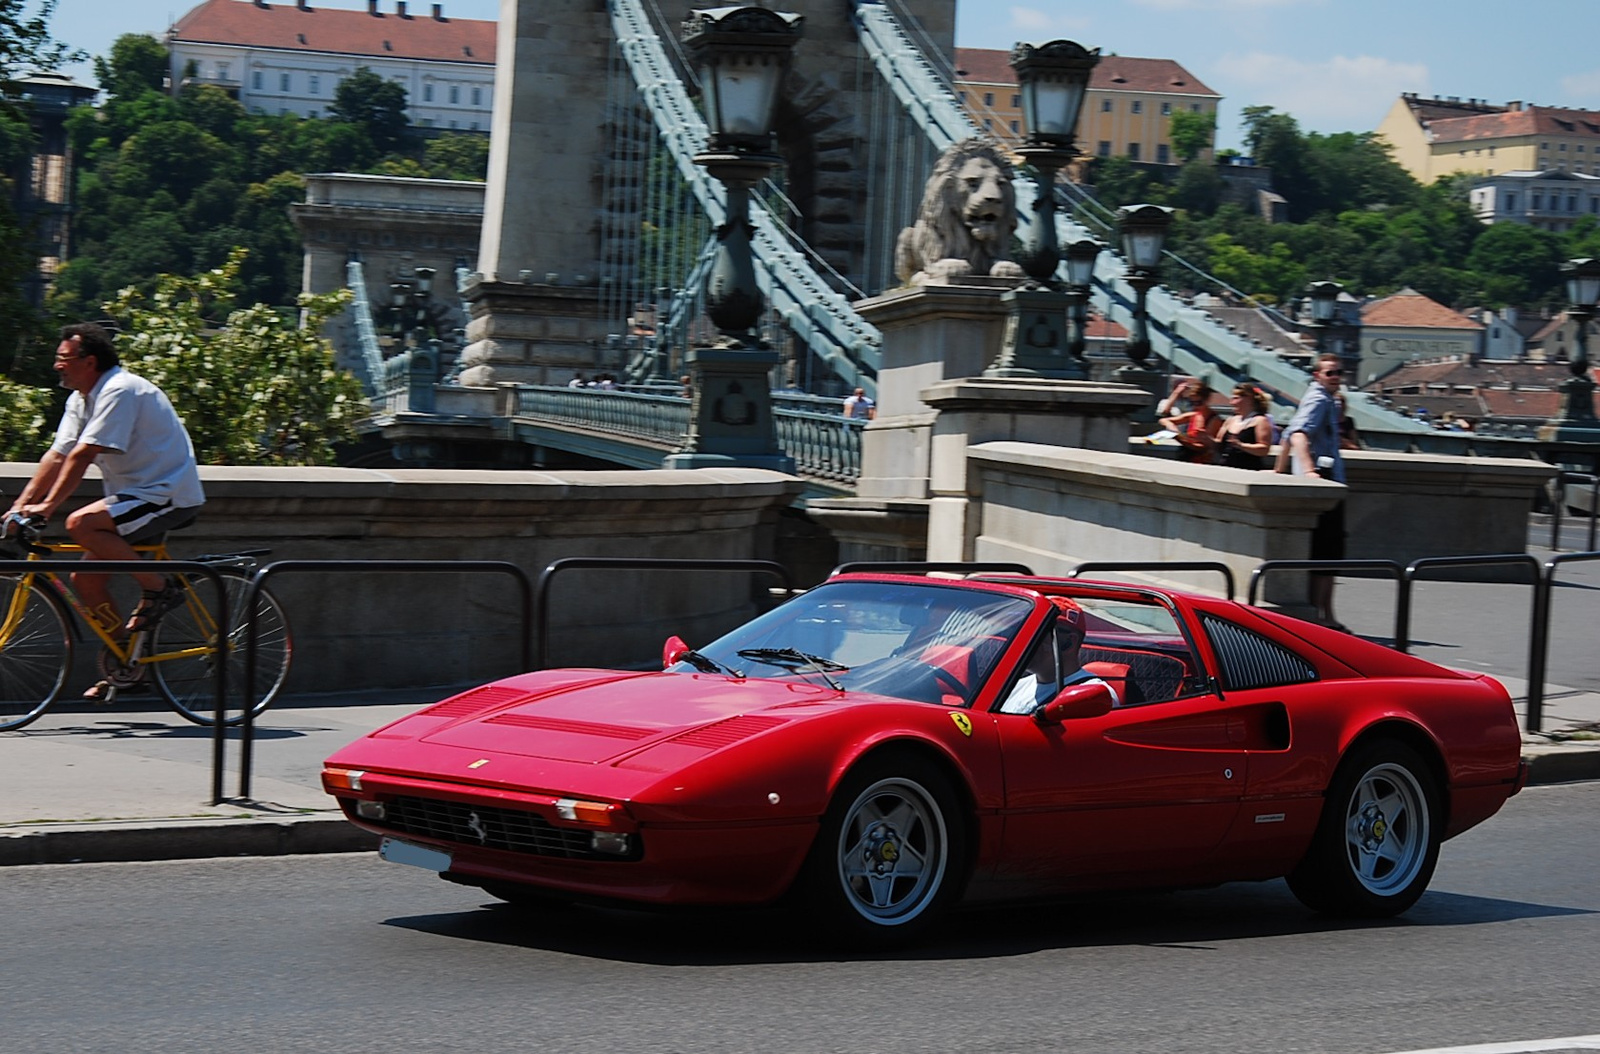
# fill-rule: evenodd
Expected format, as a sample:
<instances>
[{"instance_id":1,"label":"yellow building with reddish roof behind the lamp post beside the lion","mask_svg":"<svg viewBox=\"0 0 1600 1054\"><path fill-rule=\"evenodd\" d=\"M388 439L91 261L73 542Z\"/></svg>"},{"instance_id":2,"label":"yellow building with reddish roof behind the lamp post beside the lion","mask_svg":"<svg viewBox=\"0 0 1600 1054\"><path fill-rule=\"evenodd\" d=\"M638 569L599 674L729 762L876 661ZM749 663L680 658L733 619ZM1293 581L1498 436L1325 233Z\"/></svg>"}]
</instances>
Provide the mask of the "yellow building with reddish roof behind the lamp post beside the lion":
<instances>
[{"instance_id":1,"label":"yellow building with reddish roof behind the lamp post beside the lion","mask_svg":"<svg viewBox=\"0 0 1600 1054\"><path fill-rule=\"evenodd\" d=\"M955 90L979 128L1002 142L1021 141L1027 130L1010 51L957 48ZM1102 54L1078 117L1078 149L1098 157L1174 165L1173 112L1216 114L1221 101L1173 59ZM1210 160L1211 150L1202 157Z\"/></svg>"}]
</instances>

